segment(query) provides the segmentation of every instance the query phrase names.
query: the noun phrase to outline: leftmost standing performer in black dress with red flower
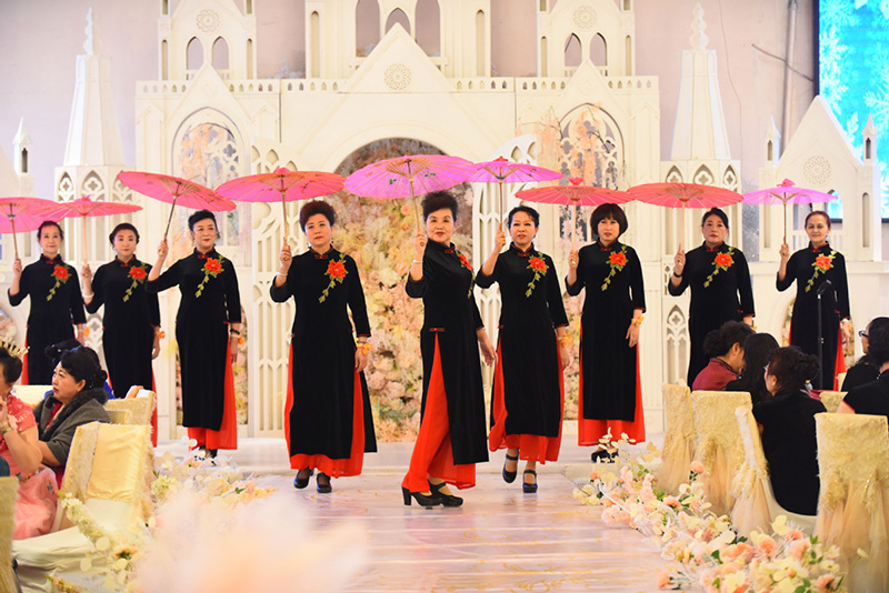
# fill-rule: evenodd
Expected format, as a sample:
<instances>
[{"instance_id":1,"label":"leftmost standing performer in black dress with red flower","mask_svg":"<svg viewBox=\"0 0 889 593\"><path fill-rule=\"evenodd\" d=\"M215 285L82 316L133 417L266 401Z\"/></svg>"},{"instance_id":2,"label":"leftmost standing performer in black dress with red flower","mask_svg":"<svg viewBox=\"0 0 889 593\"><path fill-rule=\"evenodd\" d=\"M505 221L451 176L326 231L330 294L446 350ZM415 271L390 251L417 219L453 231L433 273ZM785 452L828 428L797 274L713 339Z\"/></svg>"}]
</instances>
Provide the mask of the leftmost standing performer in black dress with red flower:
<instances>
[{"instance_id":1,"label":"leftmost standing performer in black dress with red flower","mask_svg":"<svg viewBox=\"0 0 889 593\"><path fill-rule=\"evenodd\" d=\"M59 251L64 233L56 222L44 221L37 230L37 241L43 251L40 259L24 270L21 260L12 263L12 285L9 304L18 306L26 296L31 298L28 314L22 385L49 385L52 382L53 364L43 351L47 346L72 340L77 325L77 340L83 343L83 296L74 269L62 261Z\"/></svg>"}]
</instances>

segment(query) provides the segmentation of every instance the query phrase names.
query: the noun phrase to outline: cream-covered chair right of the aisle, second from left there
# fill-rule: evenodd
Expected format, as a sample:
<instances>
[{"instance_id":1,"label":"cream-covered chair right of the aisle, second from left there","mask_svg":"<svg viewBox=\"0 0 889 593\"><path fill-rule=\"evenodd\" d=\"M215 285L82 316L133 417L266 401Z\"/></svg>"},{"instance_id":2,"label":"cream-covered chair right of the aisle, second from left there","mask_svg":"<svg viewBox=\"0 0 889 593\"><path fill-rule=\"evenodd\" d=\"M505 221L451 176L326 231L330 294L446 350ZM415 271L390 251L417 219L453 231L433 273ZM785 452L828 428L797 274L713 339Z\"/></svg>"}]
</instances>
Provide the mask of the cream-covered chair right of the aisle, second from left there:
<instances>
[{"instance_id":1,"label":"cream-covered chair right of the aisle, second from left there","mask_svg":"<svg viewBox=\"0 0 889 593\"><path fill-rule=\"evenodd\" d=\"M743 444L738 430L737 408L751 410L750 393L746 391L692 391L697 432L696 459L703 463L703 493L710 510L719 515L730 514L735 506L731 478L743 463Z\"/></svg>"}]
</instances>

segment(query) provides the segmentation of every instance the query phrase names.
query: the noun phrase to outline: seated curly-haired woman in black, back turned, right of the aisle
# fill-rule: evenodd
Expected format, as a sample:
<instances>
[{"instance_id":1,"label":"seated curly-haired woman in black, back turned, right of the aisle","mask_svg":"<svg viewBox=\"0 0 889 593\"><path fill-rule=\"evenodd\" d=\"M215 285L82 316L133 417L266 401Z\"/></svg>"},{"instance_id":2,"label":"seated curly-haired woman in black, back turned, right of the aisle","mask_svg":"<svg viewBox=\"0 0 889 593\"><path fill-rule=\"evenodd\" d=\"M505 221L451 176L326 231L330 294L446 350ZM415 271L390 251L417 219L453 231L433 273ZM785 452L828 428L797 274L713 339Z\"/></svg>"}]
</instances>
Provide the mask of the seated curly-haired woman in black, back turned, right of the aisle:
<instances>
[{"instance_id":1,"label":"seated curly-haired woman in black, back turned, right of the aisle","mask_svg":"<svg viewBox=\"0 0 889 593\"><path fill-rule=\"evenodd\" d=\"M827 410L805 389L818 371L817 356L796 346L779 348L766 366L766 388L772 399L753 406L775 500L787 511L803 515L818 510L815 414Z\"/></svg>"}]
</instances>

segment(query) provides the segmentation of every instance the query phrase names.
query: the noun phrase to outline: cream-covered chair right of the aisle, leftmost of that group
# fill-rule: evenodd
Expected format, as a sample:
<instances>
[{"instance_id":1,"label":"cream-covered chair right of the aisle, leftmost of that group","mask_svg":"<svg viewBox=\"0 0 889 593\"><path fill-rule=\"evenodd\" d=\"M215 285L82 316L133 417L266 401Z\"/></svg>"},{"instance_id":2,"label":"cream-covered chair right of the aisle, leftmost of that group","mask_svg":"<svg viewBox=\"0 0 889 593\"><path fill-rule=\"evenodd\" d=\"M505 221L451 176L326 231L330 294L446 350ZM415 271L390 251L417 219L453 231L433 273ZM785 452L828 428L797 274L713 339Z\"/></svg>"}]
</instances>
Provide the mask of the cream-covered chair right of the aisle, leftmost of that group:
<instances>
[{"instance_id":1,"label":"cream-covered chair right of the aisle, leftmost of that group","mask_svg":"<svg viewBox=\"0 0 889 593\"><path fill-rule=\"evenodd\" d=\"M667 432L661 464L655 475L666 492L676 494L679 485L688 482L695 459L695 413L691 410L691 390L687 385L665 383L661 392L667 410Z\"/></svg>"}]
</instances>

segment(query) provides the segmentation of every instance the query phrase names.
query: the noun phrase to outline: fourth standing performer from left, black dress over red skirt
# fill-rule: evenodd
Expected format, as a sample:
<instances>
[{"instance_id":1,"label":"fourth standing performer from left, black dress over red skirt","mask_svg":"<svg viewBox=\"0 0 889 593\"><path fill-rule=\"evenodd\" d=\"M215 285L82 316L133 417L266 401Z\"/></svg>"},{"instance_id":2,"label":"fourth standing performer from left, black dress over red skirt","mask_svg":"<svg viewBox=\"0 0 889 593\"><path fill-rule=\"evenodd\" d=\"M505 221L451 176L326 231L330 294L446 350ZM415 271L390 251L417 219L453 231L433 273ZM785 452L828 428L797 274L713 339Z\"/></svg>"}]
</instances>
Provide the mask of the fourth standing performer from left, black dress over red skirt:
<instances>
[{"instance_id":1,"label":"fourth standing performer from left, black dress over red skirt","mask_svg":"<svg viewBox=\"0 0 889 593\"><path fill-rule=\"evenodd\" d=\"M299 470L293 485L306 488L318 469L318 492L322 493L332 490L331 478L359 475L364 453L377 451L363 373L370 355L370 322L358 267L330 242L334 221L327 202L302 207L299 223L309 251L291 258L290 245L284 244L271 285L274 302L293 296L297 305L284 406L290 466Z\"/></svg>"}]
</instances>

